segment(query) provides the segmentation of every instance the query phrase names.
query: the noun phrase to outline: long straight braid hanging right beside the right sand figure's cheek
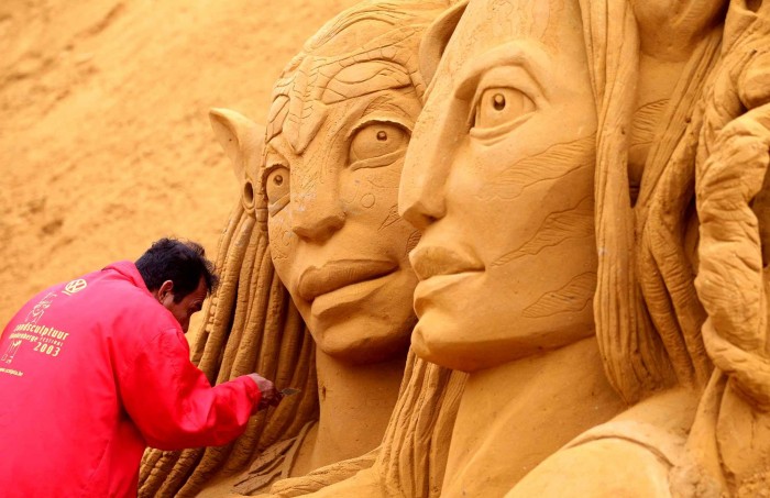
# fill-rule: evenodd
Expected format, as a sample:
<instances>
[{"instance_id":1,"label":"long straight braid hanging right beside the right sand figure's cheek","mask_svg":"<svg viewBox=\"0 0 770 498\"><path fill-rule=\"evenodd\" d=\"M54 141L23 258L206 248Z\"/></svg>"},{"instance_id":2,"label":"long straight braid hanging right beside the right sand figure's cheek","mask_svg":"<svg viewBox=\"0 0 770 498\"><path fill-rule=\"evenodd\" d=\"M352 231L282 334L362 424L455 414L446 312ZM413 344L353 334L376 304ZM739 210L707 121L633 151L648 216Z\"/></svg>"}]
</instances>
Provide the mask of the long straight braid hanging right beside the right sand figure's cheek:
<instances>
[{"instance_id":1,"label":"long straight braid hanging right beside the right sand figure's cheek","mask_svg":"<svg viewBox=\"0 0 770 498\"><path fill-rule=\"evenodd\" d=\"M625 0L580 3L598 117L596 335L610 384L631 403L672 377L636 275L635 214L626 169L639 41Z\"/></svg>"}]
</instances>

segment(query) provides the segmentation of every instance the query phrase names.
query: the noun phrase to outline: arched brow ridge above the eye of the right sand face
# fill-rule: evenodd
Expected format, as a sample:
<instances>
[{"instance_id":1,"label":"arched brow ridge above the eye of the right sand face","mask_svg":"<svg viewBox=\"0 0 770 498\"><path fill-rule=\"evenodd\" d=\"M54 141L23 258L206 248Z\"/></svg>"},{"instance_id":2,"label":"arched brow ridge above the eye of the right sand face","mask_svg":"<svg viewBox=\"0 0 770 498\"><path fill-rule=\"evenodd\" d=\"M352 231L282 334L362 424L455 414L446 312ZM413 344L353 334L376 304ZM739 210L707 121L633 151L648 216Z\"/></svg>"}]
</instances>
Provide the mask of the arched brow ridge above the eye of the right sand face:
<instances>
[{"instance_id":1,"label":"arched brow ridge above the eye of the right sand face","mask_svg":"<svg viewBox=\"0 0 770 498\"><path fill-rule=\"evenodd\" d=\"M460 100L469 100L473 97L480 78L487 70L499 66L520 66L532 78L538 89L548 95L542 82L547 80L551 57L538 44L508 42L496 46L480 57L472 59L461 70L460 82L454 91L454 97Z\"/></svg>"}]
</instances>

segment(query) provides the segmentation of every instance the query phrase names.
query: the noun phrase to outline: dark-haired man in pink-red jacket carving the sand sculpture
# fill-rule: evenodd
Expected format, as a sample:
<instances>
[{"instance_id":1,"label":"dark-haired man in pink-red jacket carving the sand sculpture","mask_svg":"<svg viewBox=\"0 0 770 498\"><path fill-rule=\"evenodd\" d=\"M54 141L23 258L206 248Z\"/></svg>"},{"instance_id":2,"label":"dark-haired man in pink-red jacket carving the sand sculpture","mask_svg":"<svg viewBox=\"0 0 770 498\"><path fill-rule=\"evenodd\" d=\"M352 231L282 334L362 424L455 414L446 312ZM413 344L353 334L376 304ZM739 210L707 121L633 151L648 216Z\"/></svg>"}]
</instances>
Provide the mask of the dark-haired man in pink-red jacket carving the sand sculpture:
<instances>
[{"instance_id":1,"label":"dark-haired man in pink-red jacket carving the sand sculpture","mask_svg":"<svg viewBox=\"0 0 770 498\"><path fill-rule=\"evenodd\" d=\"M222 445L273 383L211 387L184 332L217 277L195 243L163 239L44 290L0 339L0 496L136 496L145 446Z\"/></svg>"}]
</instances>

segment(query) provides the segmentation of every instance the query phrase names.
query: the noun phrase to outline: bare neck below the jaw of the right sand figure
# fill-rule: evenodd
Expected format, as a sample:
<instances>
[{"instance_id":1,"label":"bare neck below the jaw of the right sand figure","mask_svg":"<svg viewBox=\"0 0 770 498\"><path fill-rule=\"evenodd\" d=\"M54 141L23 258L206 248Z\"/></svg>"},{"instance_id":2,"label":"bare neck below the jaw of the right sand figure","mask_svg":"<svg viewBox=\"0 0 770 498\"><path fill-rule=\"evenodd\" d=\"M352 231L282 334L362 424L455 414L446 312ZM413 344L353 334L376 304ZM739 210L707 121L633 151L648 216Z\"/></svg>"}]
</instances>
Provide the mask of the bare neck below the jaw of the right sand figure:
<instances>
[{"instance_id":1,"label":"bare neck below the jaw of the right sand figure","mask_svg":"<svg viewBox=\"0 0 770 498\"><path fill-rule=\"evenodd\" d=\"M548 455L625 405L594 336L470 375L442 496L504 496Z\"/></svg>"}]
</instances>

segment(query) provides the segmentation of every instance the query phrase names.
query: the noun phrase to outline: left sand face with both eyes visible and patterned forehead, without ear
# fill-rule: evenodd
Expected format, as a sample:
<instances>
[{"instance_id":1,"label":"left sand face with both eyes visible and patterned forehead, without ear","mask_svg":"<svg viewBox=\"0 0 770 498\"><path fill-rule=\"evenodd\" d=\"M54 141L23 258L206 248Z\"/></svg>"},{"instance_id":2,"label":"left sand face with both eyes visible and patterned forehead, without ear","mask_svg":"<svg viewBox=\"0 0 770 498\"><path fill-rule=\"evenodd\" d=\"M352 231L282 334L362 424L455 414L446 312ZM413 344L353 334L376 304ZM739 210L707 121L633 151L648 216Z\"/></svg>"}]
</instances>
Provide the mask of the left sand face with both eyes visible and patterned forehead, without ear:
<instances>
[{"instance_id":1,"label":"left sand face with both eyes visible and patterned forehead, without ear","mask_svg":"<svg viewBox=\"0 0 770 498\"><path fill-rule=\"evenodd\" d=\"M318 347L344 361L405 351L415 323L419 234L397 196L420 109L406 69L371 54L306 56L275 91L262 174L273 262Z\"/></svg>"}]
</instances>

